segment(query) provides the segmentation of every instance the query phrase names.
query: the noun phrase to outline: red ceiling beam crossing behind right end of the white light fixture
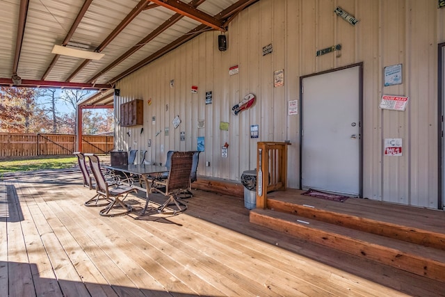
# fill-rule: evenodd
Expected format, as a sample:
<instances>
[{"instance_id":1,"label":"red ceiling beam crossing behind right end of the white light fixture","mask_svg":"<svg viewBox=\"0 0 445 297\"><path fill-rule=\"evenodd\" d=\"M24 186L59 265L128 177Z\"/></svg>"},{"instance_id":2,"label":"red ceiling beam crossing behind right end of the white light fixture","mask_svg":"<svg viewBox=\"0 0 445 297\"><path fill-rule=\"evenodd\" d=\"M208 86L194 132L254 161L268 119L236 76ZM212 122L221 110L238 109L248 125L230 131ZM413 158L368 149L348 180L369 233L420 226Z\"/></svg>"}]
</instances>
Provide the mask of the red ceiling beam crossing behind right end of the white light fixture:
<instances>
[{"instance_id":1,"label":"red ceiling beam crossing behind right end of the white light fixture","mask_svg":"<svg viewBox=\"0 0 445 297\"><path fill-rule=\"evenodd\" d=\"M140 12L142 12L143 10L145 10L147 8L147 6L149 6L150 1L148 0L140 0L138 5L136 5L133 10L131 10L131 12L124 18L122 19L122 22L120 22L120 24L118 24L118 26L115 27L115 29L113 30L113 32L111 32L106 38L105 40L99 45L99 47L97 47L97 49L95 51L97 51L98 53L100 53L101 51L103 51L105 49L105 47L107 45L110 44L111 41L113 41L113 39L116 38L116 36L119 35L120 32L122 32L122 30L125 29L126 26L128 26L131 21L133 21L133 19L135 17L137 17ZM77 74L79 74L79 72L81 72L81 70L86 67L86 65L88 65L91 62L91 60L85 60L81 63L81 65L79 67L77 67L76 70L74 70L74 72L72 72L72 74L70 74L70 77L68 77L66 79L66 81L71 81L72 79L74 79L74 77L76 77Z\"/></svg>"}]
</instances>

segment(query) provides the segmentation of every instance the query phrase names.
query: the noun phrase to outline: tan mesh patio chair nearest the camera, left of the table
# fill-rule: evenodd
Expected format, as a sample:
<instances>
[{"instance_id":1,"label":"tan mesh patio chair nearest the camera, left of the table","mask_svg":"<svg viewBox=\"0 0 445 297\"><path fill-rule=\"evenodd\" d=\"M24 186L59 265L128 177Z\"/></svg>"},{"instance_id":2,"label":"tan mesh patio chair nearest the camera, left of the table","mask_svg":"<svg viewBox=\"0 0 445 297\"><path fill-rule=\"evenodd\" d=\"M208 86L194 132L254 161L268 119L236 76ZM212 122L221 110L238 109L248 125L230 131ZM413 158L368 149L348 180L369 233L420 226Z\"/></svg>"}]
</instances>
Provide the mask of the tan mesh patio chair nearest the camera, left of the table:
<instances>
[{"instance_id":1,"label":"tan mesh patio chair nearest the camera, left of the table","mask_svg":"<svg viewBox=\"0 0 445 297\"><path fill-rule=\"evenodd\" d=\"M131 205L125 204L124 199L127 198L129 193L138 193L136 188L133 188L133 186L124 186L122 184L115 186L108 185L101 170L99 157L95 154L85 154L85 156L88 156L90 159L90 168L92 175L96 180L97 194L111 201L104 209L99 211L99 214L101 216L118 216L128 214L131 211ZM122 207L124 211L120 211L118 214L115 214L114 212L110 214L111 209L116 209L118 207Z\"/></svg>"}]
</instances>

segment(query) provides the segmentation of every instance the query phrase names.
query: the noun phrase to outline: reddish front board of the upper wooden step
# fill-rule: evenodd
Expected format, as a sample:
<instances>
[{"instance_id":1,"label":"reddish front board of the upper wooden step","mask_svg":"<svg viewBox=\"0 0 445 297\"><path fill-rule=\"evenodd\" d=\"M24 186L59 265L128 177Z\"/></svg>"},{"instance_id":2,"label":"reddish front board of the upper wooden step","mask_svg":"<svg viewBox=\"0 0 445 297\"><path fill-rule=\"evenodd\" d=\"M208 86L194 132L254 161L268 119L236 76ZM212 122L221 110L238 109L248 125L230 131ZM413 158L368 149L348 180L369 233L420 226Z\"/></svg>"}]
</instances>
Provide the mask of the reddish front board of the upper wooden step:
<instances>
[{"instance_id":1,"label":"reddish front board of the upper wooden step","mask_svg":"<svg viewBox=\"0 0 445 297\"><path fill-rule=\"evenodd\" d=\"M339 202L333 202L339 204ZM325 223L331 223L351 229L369 232L381 236L387 236L392 239L407 241L422 246L445 250L445 234L433 232L430 230L422 230L405 225L385 222L384 220L374 220L353 214L342 214L336 211L320 209L307 204L295 204L292 202L284 202L280 200L268 199L268 209L276 211L284 211L288 214L298 214L304 218L312 218Z\"/></svg>"}]
</instances>

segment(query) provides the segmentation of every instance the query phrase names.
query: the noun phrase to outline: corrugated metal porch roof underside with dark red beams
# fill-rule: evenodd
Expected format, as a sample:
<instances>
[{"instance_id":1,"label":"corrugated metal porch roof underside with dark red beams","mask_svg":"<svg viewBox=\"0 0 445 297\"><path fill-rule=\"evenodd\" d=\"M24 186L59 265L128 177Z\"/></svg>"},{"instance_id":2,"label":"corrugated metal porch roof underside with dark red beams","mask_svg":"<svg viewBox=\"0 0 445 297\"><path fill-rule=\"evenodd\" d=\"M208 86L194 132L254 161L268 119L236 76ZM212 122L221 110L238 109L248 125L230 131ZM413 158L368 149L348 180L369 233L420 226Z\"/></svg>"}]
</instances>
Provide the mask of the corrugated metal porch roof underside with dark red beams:
<instances>
[{"instance_id":1,"label":"corrugated metal porch roof underside with dark red beams","mask_svg":"<svg viewBox=\"0 0 445 297\"><path fill-rule=\"evenodd\" d=\"M203 31L225 31L256 1L0 0L0 86L104 91ZM104 57L52 54L54 45Z\"/></svg>"}]
</instances>

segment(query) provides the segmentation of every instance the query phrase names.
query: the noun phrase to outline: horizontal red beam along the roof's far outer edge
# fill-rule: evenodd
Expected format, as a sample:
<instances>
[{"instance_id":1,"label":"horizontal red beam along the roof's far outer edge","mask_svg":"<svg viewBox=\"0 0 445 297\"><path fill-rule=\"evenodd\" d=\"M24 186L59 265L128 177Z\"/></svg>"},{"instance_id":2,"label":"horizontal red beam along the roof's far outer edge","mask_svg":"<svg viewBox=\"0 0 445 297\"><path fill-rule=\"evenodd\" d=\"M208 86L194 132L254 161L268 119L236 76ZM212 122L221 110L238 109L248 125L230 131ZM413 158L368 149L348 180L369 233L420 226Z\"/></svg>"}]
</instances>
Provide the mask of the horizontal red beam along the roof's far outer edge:
<instances>
[{"instance_id":1,"label":"horizontal red beam along the roof's far outer edge","mask_svg":"<svg viewBox=\"0 0 445 297\"><path fill-rule=\"evenodd\" d=\"M0 86L13 86L13 80L8 78L0 78ZM108 84L98 83L67 83L64 81L34 81L31 79L22 79L22 84L17 87L27 88L81 88L89 90L104 90L113 88Z\"/></svg>"}]
</instances>

